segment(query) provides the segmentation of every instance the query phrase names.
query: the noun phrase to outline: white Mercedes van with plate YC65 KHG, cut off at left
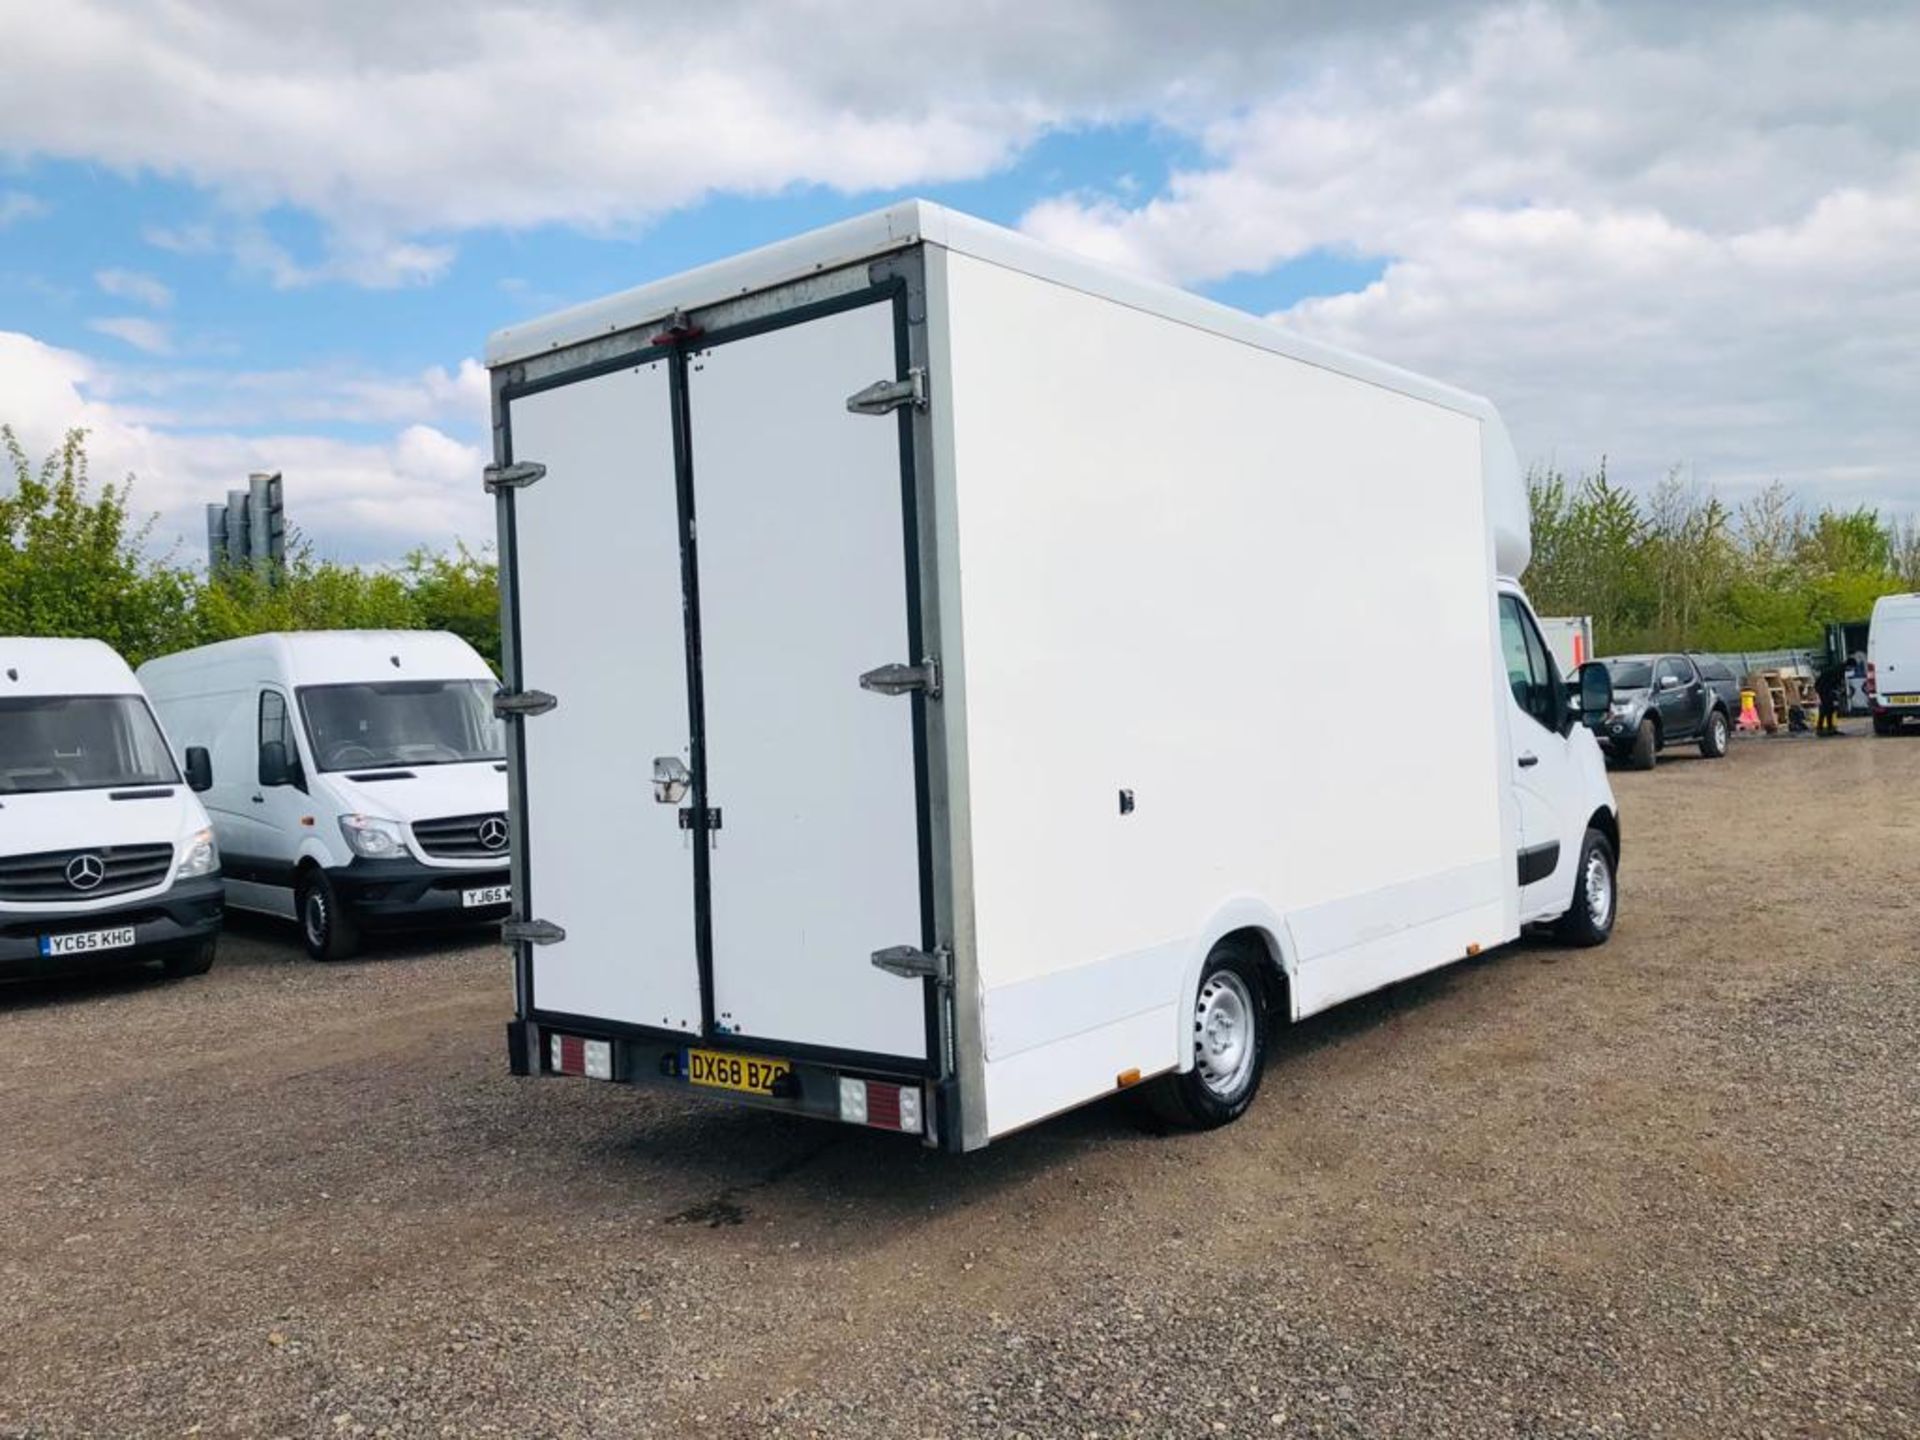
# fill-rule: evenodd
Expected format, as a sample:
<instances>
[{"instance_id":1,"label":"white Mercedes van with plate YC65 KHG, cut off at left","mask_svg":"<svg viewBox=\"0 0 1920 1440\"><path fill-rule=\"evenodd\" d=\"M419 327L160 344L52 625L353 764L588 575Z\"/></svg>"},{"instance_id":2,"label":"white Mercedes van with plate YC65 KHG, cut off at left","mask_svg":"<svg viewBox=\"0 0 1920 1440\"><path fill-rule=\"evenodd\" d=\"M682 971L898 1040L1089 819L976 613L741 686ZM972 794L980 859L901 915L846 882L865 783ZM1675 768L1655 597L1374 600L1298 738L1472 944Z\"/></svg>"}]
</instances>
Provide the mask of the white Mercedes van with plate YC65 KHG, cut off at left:
<instances>
[{"instance_id":1,"label":"white Mercedes van with plate YC65 KHG, cut off at left","mask_svg":"<svg viewBox=\"0 0 1920 1440\"><path fill-rule=\"evenodd\" d=\"M0 639L0 975L213 964L221 856L127 662L98 639Z\"/></svg>"}]
</instances>

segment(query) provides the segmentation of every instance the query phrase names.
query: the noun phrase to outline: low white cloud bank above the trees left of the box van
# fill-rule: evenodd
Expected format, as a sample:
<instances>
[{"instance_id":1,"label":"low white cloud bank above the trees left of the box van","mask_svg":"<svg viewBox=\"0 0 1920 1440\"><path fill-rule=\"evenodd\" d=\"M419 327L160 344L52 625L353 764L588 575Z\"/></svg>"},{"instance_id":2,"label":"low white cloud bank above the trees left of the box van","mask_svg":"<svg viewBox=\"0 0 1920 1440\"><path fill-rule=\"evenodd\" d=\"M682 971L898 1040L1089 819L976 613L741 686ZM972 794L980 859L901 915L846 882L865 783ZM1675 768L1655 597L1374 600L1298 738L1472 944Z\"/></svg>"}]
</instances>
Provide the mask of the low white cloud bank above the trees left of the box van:
<instances>
[{"instance_id":1,"label":"low white cloud bank above the trees left of the box van","mask_svg":"<svg viewBox=\"0 0 1920 1440\"><path fill-rule=\"evenodd\" d=\"M440 374L457 390L457 376ZM15 426L35 457L69 428L86 428L94 474L136 478L134 507L159 513L156 543L175 545L180 563L196 563L205 547L205 503L253 470L286 474L288 518L324 555L382 561L422 541L492 536L480 447L436 426L403 424L367 444L298 430L177 432L177 417L104 397L111 390L111 374L96 361L0 332L0 420Z\"/></svg>"}]
</instances>

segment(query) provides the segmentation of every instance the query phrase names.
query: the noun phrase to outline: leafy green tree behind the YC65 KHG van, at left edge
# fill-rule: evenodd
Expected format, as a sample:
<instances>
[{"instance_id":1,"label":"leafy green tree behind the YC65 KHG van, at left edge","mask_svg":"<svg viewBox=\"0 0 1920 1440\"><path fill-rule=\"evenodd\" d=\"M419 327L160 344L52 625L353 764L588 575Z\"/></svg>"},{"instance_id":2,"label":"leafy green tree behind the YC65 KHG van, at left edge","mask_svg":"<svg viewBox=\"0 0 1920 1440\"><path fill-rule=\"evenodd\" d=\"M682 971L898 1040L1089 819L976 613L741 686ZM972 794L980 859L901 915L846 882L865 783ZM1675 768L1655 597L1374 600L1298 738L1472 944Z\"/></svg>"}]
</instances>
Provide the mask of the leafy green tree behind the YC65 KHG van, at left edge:
<instances>
[{"instance_id":1,"label":"leafy green tree behind the YC65 KHG van, at left edge","mask_svg":"<svg viewBox=\"0 0 1920 1440\"><path fill-rule=\"evenodd\" d=\"M194 576L148 557L154 520L132 520L131 480L94 488L86 432L69 430L38 468L10 426L0 442L12 472L0 493L0 634L90 636L132 664L194 643Z\"/></svg>"}]
</instances>

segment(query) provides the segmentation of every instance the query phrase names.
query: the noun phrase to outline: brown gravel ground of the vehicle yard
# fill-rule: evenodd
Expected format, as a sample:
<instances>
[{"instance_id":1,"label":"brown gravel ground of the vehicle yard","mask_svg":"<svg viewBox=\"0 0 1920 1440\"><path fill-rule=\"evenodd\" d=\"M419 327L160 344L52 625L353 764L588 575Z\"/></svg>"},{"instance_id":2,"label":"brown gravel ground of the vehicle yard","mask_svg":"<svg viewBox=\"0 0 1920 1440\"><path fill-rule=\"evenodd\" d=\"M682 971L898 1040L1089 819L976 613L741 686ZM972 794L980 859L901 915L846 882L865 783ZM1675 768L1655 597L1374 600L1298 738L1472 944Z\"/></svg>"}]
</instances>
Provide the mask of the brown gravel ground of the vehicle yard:
<instances>
[{"instance_id":1,"label":"brown gravel ground of the vehicle yard","mask_svg":"<svg viewBox=\"0 0 1920 1440\"><path fill-rule=\"evenodd\" d=\"M1617 776L1613 945L970 1158L505 1073L505 964L0 991L0 1436L1912 1436L1920 737Z\"/></svg>"}]
</instances>

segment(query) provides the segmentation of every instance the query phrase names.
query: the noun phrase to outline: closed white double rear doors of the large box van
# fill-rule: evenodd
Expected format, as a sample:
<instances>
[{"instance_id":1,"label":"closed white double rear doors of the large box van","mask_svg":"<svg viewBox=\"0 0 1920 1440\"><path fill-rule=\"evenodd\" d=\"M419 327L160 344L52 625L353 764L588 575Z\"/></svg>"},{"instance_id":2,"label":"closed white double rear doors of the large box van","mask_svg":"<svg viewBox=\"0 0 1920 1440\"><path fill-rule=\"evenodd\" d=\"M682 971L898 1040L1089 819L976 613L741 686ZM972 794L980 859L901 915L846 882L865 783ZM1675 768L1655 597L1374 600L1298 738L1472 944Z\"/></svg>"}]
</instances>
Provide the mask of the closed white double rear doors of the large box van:
<instances>
[{"instance_id":1,"label":"closed white double rear doors of the large box van","mask_svg":"<svg viewBox=\"0 0 1920 1440\"><path fill-rule=\"evenodd\" d=\"M925 695L904 374L876 284L636 336L499 388L522 1010L922 1069L931 987ZM618 351L618 348L612 348Z\"/></svg>"}]
</instances>

